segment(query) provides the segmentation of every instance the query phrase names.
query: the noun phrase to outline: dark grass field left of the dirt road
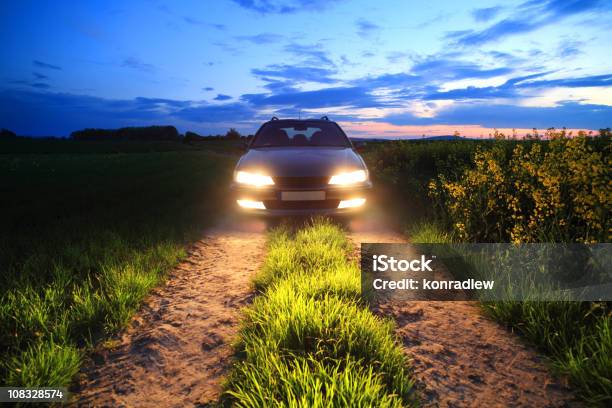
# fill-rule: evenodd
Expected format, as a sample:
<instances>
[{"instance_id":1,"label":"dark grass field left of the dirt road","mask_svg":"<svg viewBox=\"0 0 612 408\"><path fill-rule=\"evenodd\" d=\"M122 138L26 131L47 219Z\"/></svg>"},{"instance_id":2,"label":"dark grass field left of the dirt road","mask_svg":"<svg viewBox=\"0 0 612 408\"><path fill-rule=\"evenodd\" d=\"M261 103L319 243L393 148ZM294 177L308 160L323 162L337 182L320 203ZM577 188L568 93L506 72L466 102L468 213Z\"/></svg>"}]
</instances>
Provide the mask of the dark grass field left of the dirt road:
<instances>
[{"instance_id":1,"label":"dark grass field left of the dirt road","mask_svg":"<svg viewBox=\"0 0 612 408\"><path fill-rule=\"evenodd\" d=\"M69 385L225 205L230 157L61 143L0 154L3 385Z\"/></svg>"}]
</instances>

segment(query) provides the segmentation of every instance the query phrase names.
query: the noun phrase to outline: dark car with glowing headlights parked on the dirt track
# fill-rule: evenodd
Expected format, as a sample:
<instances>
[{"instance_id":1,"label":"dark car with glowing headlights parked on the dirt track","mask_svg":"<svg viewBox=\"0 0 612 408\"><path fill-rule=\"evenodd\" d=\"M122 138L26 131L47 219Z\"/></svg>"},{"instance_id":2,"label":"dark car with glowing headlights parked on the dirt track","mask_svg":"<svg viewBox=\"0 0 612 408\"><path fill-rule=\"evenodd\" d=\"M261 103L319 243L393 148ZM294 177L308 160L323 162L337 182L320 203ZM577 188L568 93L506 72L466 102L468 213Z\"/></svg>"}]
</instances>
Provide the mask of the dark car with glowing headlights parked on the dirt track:
<instances>
[{"instance_id":1,"label":"dark car with glowing headlights parked on the dirt track","mask_svg":"<svg viewBox=\"0 0 612 408\"><path fill-rule=\"evenodd\" d=\"M365 207L368 168L340 126L321 119L264 123L234 171L238 207L264 215L348 214Z\"/></svg>"}]
</instances>

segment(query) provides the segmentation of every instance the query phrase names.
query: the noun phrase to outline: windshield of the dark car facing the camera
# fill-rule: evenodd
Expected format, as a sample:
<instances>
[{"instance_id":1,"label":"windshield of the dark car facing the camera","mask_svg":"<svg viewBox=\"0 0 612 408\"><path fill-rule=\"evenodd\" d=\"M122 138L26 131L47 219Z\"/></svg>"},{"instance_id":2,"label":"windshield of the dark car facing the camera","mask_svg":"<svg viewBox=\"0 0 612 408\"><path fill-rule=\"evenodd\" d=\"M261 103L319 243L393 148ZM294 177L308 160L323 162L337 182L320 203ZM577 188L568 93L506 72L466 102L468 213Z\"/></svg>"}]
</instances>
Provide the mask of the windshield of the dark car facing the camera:
<instances>
[{"instance_id":1,"label":"windshield of the dark car facing the camera","mask_svg":"<svg viewBox=\"0 0 612 408\"><path fill-rule=\"evenodd\" d=\"M349 147L346 135L334 123L267 123L251 147L338 146Z\"/></svg>"}]
</instances>

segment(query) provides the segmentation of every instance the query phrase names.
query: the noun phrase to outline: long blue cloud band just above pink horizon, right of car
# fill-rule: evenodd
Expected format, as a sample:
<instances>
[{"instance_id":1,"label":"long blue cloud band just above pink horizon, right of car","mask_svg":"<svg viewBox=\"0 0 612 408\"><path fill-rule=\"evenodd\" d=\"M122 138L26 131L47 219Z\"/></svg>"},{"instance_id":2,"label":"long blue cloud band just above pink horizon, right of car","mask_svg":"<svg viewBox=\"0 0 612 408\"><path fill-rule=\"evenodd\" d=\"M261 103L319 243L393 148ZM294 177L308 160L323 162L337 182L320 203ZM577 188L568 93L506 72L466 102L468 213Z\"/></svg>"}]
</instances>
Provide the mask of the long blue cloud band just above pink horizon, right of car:
<instances>
[{"instance_id":1,"label":"long blue cloud band just above pink horizon, right of car","mask_svg":"<svg viewBox=\"0 0 612 408\"><path fill-rule=\"evenodd\" d=\"M490 128L582 128L599 129L612 126L612 106L565 102L557 107L490 105L483 103L455 104L435 117L411 114L390 115L381 119L394 125L481 125Z\"/></svg>"}]
</instances>

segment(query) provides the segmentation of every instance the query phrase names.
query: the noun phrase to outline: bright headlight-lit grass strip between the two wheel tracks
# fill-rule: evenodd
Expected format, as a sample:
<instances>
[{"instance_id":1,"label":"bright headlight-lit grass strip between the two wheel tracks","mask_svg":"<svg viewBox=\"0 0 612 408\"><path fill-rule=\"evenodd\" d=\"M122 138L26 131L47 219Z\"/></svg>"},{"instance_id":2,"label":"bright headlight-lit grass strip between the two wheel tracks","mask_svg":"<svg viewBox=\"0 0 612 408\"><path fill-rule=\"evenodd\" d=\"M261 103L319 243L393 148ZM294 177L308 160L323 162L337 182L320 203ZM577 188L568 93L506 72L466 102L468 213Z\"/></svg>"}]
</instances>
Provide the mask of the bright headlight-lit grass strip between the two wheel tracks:
<instances>
[{"instance_id":1,"label":"bright headlight-lit grass strip between the two wheel tracks","mask_svg":"<svg viewBox=\"0 0 612 408\"><path fill-rule=\"evenodd\" d=\"M393 324L361 300L343 231L324 220L274 230L246 308L240 360L226 383L237 406L415 405Z\"/></svg>"}]
</instances>

